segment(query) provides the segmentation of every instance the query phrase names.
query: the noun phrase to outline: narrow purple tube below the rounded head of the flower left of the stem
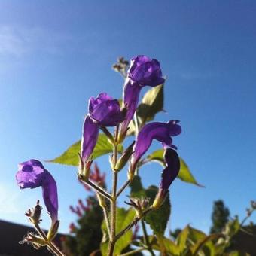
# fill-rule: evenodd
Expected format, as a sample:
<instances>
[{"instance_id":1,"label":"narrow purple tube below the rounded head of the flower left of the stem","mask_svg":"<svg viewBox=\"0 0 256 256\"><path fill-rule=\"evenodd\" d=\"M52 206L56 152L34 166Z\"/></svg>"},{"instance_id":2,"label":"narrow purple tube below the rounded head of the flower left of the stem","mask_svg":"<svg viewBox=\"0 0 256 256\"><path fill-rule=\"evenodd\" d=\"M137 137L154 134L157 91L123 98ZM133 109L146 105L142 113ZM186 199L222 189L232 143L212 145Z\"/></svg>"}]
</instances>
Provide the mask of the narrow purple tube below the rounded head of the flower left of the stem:
<instances>
[{"instance_id":1,"label":"narrow purple tube below the rounded head of the flower left of the stem","mask_svg":"<svg viewBox=\"0 0 256 256\"><path fill-rule=\"evenodd\" d=\"M99 127L93 122L92 118L87 115L84 119L83 136L81 139L81 158L84 163L87 162L96 145L99 136Z\"/></svg>"}]
</instances>

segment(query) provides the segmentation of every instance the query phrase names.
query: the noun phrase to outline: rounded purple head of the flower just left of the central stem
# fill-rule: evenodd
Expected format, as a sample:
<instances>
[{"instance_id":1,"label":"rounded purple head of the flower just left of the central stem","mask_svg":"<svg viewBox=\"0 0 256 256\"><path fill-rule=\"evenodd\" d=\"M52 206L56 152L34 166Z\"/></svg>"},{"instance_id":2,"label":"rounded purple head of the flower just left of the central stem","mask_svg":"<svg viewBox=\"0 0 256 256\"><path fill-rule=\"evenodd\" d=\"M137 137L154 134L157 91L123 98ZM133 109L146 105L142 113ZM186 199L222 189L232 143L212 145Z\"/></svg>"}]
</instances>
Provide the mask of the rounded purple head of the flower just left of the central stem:
<instances>
[{"instance_id":1,"label":"rounded purple head of the flower just left of the central stem","mask_svg":"<svg viewBox=\"0 0 256 256\"><path fill-rule=\"evenodd\" d=\"M112 99L107 93L100 93L96 99L90 98L89 114L100 126L117 126L125 118L117 99Z\"/></svg>"}]
</instances>

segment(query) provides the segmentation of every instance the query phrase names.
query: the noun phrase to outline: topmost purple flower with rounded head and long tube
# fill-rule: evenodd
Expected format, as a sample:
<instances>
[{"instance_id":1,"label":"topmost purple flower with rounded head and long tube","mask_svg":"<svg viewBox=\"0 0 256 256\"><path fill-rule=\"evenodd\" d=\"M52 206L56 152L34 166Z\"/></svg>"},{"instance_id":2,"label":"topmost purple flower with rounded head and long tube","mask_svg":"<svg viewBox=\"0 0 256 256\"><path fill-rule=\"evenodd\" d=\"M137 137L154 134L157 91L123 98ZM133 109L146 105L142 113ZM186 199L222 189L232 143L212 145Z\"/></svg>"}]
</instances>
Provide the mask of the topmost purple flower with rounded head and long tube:
<instances>
[{"instance_id":1,"label":"topmost purple flower with rounded head and long tube","mask_svg":"<svg viewBox=\"0 0 256 256\"><path fill-rule=\"evenodd\" d=\"M144 55L139 55L131 59L130 69L128 69L126 82L123 88L123 105L127 107L126 120L122 123L120 134L125 133L139 102L139 93L146 85L155 87L163 84L160 63L157 59L151 59Z\"/></svg>"}]
</instances>

